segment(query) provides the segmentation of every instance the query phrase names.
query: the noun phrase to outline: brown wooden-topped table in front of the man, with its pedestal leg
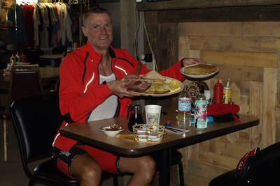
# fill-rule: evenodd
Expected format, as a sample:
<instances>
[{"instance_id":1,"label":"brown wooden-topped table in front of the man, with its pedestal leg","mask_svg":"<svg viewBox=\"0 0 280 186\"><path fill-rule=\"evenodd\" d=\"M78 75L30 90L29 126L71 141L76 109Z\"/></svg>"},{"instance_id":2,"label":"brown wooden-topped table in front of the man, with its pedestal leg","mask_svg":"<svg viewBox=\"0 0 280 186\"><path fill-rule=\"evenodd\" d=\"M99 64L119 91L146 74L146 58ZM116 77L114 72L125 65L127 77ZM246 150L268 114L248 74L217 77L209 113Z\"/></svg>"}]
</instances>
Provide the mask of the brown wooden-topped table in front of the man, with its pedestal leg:
<instances>
[{"instance_id":1,"label":"brown wooden-topped table in front of the man, with its pedestal leg","mask_svg":"<svg viewBox=\"0 0 280 186\"><path fill-rule=\"evenodd\" d=\"M160 124L164 125L165 121L170 120L172 127L178 127L175 117L175 111L167 111L166 116L161 116ZM120 134L132 134L132 132L127 129L128 120L124 116L68 125L62 127L60 134L121 156L133 157L160 151L161 158L164 160L162 162L162 170L160 171L160 185L169 185L171 148L190 146L208 139L214 139L225 134L253 127L259 123L258 118L252 116L239 115L239 117L241 121L240 123L237 121L230 123L208 123L207 129L204 130L190 127L189 132L183 134L167 133L162 138L162 141L156 144L137 143L134 141L127 141L125 139L118 139L116 137L107 137L106 134L99 130L100 127L116 123L118 125L123 125L125 128L125 130Z\"/></svg>"}]
</instances>

